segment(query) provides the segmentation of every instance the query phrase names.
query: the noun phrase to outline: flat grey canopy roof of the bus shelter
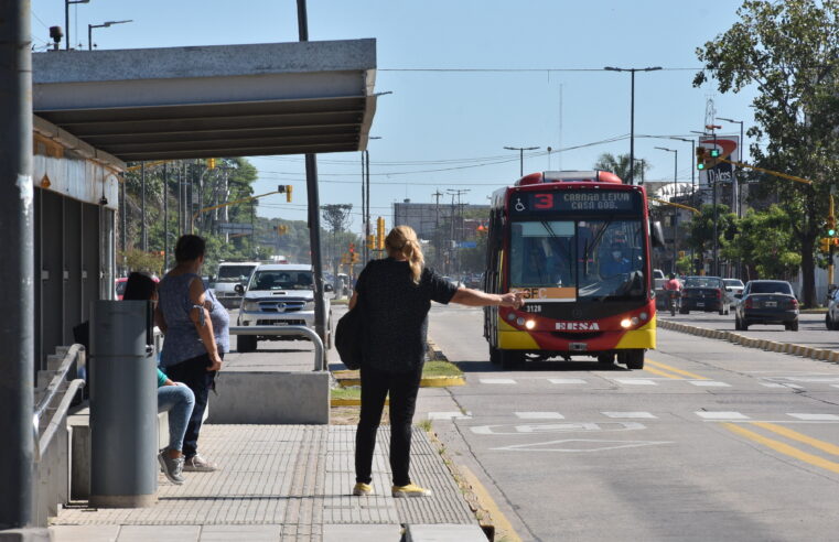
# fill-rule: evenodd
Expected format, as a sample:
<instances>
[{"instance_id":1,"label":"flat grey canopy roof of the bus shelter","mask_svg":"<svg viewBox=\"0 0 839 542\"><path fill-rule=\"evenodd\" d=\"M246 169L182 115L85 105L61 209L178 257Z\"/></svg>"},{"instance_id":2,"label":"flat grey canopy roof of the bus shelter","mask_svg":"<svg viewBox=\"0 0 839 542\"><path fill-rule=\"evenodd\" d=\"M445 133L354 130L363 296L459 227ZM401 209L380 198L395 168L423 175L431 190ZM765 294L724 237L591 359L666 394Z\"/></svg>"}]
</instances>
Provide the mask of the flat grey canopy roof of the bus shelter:
<instances>
[{"instance_id":1,"label":"flat grey canopy roof of the bus shelter","mask_svg":"<svg viewBox=\"0 0 839 542\"><path fill-rule=\"evenodd\" d=\"M32 55L34 113L126 161L358 151L376 41Z\"/></svg>"}]
</instances>

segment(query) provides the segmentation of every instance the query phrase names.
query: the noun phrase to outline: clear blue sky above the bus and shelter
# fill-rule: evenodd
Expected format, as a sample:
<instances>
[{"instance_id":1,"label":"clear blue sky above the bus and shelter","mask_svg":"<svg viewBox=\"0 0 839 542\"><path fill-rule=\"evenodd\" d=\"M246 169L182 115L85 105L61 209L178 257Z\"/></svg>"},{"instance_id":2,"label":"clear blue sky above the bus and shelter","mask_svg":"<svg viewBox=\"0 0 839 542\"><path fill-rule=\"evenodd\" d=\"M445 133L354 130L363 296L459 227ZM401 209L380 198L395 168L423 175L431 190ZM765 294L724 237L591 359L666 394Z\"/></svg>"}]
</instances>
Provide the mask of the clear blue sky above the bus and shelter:
<instances>
[{"instance_id":1,"label":"clear blue sky above the bus and shelter","mask_svg":"<svg viewBox=\"0 0 839 542\"><path fill-rule=\"evenodd\" d=\"M652 164L647 180L690 181L690 144L643 136L701 130L706 102L718 116L753 122L753 91L719 95L693 88L695 50L736 21L741 1L679 0L309 0L310 40L375 37L378 100L368 145L372 212L387 218L390 205L430 202L438 188L467 188L465 200L486 203L495 188L525 173L591 169L603 152L628 153L630 74L604 66L661 66L637 74L635 156ZM64 0L32 0L36 45L47 26L64 25ZM132 19L96 29L99 48L290 42L298 40L294 0L90 0L71 7L71 35L87 47L87 24ZM435 72L411 72L430 68ZM685 69L688 68L688 69ZM439 69L456 69L440 72ZM501 72L471 72L502 69ZM534 72L521 72L533 69ZM594 71L588 71L594 69ZM560 94L562 97L560 124ZM739 133L724 124L721 133ZM557 152L558 149L587 145ZM553 149L550 156L548 147ZM746 156L747 158L747 156ZM305 218L302 156L254 158L258 193L294 185L294 202L262 200L260 215ZM352 203L361 229L361 153L319 156L321 203Z\"/></svg>"}]
</instances>

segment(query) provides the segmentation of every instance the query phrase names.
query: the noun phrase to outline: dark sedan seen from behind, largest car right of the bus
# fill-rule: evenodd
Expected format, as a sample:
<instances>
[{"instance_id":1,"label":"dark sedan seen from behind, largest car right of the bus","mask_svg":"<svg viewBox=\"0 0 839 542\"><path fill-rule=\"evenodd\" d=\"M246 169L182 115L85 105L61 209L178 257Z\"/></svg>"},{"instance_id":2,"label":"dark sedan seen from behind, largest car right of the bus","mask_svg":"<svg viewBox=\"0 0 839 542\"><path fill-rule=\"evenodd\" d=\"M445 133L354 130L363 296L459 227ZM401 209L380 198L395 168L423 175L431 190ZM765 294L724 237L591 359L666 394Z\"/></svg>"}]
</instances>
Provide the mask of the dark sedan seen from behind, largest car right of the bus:
<instances>
[{"instance_id":1,"label":"dark sedan seen from behind, largest car right of the bus","mask_svg":"<svg viewBox=\"0 0 839 542\"><path fill-rule=\"evenodd\" d=\"M749 329L752 324L783 324L798 330L798 300L786 281L749 281L734 310L734 328Z\"/></svg>"}]
</instances>

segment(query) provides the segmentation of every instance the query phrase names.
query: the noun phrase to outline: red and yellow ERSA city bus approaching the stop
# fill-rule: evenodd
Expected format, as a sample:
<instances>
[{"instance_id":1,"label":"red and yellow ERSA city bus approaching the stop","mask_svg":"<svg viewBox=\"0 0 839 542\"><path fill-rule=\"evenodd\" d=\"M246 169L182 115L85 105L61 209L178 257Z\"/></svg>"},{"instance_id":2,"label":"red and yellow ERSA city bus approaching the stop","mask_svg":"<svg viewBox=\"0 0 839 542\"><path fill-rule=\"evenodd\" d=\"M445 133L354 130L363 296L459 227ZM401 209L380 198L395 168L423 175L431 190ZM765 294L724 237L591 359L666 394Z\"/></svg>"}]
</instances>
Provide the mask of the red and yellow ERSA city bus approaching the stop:
<instances>
[{"instance_id":1,"label":"red and yellow ERSA city bus approaching the stop","mask_svg":"<svg viewBox=\"0 0 839 542\"><path fill-rule=\"evenodd\" d=\"M526 302L485 308L491 360L588 356L643 369L656 346L650 254L646 192L612 173L534 173L496 191L484 288Z\"/></svg>"}]
</instances>

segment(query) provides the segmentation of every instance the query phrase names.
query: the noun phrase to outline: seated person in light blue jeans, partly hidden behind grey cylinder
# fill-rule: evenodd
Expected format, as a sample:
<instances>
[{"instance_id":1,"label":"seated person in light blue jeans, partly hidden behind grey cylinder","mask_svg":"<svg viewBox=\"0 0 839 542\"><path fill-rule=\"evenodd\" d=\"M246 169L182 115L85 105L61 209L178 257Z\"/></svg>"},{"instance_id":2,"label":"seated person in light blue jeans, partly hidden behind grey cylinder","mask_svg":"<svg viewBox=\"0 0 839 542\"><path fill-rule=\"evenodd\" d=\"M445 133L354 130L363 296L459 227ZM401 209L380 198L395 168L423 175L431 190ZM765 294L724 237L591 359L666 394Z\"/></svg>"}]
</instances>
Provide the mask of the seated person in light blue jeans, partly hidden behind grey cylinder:
<instances>
[{"instance_id":1,"label":"seated person in light blue jeans, partly hidden behind grey cylinder","mask_svg":"<svg viewBox=\"0 0 839 542\"><path fill-rule=\"evenodd\" d=\"M142 272L128 277L123 300L152 301L157 303L158 292L154 279ZM172 484L183 484L183 440L190 422L195 394L182 382L174 382L158 369L158 412L169 412L169 445L158 455L163 474Z\"/></svg>"}]
</instances>

